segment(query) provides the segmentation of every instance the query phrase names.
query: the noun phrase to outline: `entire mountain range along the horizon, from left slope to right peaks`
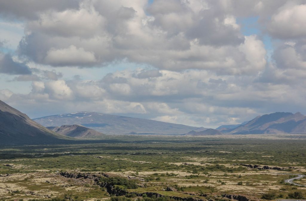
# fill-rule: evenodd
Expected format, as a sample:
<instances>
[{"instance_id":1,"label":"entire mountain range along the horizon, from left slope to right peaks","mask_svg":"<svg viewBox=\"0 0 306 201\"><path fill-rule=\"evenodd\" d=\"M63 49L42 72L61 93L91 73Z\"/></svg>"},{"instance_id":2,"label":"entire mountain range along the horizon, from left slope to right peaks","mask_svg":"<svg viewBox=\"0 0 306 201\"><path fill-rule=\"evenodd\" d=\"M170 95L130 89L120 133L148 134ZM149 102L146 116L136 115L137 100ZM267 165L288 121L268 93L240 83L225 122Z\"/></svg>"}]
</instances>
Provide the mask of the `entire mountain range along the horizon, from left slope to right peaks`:
<instances>
[{"instance_id":1,"label":"entire mountain range along the horizon, from left slope to right peaks","mask_svg":"<svg viewBox=\"0 0 306 201\"><path fill-rule=\"evenodd\" d=\"M35 121L52 127L45 128ZM223 125L218 130L95 112L59 114L41 117L35 121L0 101L0 144L71 143L75 138L92 139L104 136L99 132L102 130L107 134L132 132L133 134L155 133L186 136L306 133L306 116L299 112L295 114L289 112L265 114L238 126Z\"/></svg>"}]
</instances>

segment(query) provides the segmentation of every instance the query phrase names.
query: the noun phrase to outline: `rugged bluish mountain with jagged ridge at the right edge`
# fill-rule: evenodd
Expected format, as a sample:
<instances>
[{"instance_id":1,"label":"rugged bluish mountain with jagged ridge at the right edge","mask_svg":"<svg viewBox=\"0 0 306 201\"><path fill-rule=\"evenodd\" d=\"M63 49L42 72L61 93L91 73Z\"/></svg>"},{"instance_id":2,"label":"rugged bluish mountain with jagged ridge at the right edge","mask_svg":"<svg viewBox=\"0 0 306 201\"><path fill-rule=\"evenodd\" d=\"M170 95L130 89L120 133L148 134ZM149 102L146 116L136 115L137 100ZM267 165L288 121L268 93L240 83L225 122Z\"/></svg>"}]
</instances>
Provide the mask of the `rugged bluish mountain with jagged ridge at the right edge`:
<instances>
[{"instance_id":1,"label":"rugged bluish mountain with jagged ridge at the right edge","mask_svg":"<svg viewBox=\"0 0 306 201\"><path fill-rule=\"evenodd\" d=\"M301 113L276 112L258 116L228 134L306 133L306 116Z\"/></svg>"}]
</instances>

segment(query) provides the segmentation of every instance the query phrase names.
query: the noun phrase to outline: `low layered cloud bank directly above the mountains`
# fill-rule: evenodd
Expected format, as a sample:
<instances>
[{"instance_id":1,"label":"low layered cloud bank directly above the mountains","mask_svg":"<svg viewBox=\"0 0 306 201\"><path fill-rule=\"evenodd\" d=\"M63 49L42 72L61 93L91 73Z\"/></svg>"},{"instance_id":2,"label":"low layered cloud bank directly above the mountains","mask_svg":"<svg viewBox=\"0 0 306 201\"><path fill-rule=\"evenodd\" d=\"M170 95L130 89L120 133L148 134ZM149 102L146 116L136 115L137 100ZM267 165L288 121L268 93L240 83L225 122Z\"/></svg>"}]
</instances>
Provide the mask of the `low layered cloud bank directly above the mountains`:
<instances>
[{"instance_id":1,"label":"low layered cloud bank directly above the mountains","mask_svg":"<svg viewBox=\"0 0 306 201\"><path fill-rule=\"evenodd\" d=\"M276 70L271 66L270 75ZM286 84L289 72L275 74L270 82L260 80L260 75L237 78L206 70L160 70L161 76L148 78L136 77L139 72L117 71L101 80L33 81L30 93L14 93L6 99L16 105L35 105L42 114L96 111L212 128L280 108L306 112L302 89L306 83ZM25 112L39 117L31 110Z\"/></svg>"}]
</instances>

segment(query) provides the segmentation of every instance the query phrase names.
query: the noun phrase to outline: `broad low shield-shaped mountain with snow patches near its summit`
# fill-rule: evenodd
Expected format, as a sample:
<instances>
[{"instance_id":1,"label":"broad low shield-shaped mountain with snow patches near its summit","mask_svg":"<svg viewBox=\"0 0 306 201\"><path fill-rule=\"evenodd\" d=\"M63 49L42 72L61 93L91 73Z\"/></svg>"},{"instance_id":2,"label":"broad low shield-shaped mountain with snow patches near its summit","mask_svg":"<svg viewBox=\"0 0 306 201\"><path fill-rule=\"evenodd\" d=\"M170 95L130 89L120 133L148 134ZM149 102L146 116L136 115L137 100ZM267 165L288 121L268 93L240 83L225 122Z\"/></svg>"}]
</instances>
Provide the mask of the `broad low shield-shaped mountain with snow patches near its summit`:
<instances>
[{"instance_id":1,"label":"broad low shield-shaped mountain with snow patches near its summit","mask_svg":"<svg viewBox=\"0 0 306 201\"><path fill-rule=\"evenodd\" d=\"M184 134L198 127L96 112L75 112L33 119L43 126L82 125L105 134ZM205 128L204 128L205 129Z\"/></svg>"}]
</instances>

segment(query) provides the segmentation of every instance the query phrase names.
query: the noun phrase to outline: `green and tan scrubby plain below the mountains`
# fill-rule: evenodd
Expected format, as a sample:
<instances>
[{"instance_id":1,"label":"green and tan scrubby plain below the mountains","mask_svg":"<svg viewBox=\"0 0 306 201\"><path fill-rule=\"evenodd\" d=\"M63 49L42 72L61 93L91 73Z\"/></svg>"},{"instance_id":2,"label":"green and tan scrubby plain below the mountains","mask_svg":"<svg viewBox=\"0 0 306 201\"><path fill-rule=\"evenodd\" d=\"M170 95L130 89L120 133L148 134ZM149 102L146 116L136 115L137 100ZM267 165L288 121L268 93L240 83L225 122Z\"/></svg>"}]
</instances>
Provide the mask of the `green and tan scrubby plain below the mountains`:
<instances>
[{"instance_id":1,"label":"green and tan scrubby plain below the mountains","mask_svg":"<svg viewBox=\"0 0 306 201\"><path fill-rule=\"evenodd\" d=\"M137 181L141 187L128 189L131 193L203 200L217 200L222 194L290 198L295 192L303 195L306 188L285 184L291 176L280 173L306 174L305 144L306 135L281 134L105 136L91 143L0 147L0 200L110 199L106 189L91 180L65 178L59 172L142 178L144 181ZM234 164L294 168L259 170ZM165 191L167 187L177 191ZM112 201L125 199L136 198Z\"/></svg>"}]
</instances>

